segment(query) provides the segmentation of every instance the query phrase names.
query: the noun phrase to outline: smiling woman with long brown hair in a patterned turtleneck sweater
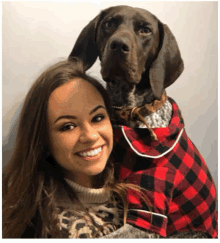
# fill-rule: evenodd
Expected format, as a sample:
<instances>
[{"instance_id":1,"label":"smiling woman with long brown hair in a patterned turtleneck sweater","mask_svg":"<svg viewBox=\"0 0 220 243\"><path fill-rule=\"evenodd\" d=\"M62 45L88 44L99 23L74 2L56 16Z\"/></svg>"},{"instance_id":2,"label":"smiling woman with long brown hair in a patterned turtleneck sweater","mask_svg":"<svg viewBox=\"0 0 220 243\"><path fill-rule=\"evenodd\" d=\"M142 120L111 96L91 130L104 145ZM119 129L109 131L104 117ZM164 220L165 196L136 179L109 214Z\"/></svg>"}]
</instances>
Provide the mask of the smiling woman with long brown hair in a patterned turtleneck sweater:
<instances>
[{"instance_id":1,"label":"smiling woman with long brown hair in a patterned turtleneck sweater","mask_svg":"<svg viewBox=\"0 0 220 243\"><path fill-rule=\"evenodd\" d=\"M4 238L101 237L126 222L126 189L141 191L114 179L110 112L105 89L79 63L40 75L3 173Z\"/></svg>"}]
</instances>

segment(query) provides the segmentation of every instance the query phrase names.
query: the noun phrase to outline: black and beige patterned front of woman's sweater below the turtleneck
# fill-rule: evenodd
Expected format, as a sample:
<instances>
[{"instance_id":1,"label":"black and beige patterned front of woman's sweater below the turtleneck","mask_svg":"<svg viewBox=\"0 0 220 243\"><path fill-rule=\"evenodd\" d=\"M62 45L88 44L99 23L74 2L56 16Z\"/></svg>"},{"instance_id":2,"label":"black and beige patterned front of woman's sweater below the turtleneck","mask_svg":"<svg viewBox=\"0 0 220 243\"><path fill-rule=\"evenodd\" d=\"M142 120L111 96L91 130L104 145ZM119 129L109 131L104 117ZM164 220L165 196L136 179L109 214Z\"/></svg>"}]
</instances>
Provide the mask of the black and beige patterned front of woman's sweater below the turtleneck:
<instances>
[{"instance_id":1,"label":"black and beige patterned front of woman's sweater below the turtleneck","mask_svg":"<svg viewBox=\"0 0 220 243\"><path fill-rule=\"evenodd\" d=\"M60 230L65 238L97 238L114 232L123 225L123 210L118 199L115 202L79 208L60 208Z\"/></svg>"}]
</instances>

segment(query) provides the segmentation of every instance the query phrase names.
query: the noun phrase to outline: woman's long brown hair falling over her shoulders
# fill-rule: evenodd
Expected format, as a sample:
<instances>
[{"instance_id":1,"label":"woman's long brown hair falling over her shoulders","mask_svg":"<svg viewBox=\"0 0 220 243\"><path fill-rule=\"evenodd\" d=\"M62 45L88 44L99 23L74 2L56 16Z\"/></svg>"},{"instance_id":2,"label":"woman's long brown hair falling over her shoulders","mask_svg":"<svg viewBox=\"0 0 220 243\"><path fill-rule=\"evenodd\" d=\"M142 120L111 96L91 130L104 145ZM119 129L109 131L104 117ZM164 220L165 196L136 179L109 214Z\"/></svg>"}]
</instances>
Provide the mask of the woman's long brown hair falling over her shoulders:
<instances>
[{"instance_id":1,"label":"woman's long brown hair falling over her shoulders","mask_svg":"<svg viewBox=\"0 0 220 243\"><path fill-rule=\"evenodd\" d=\"M58 187L70 188L62 169L49 153L47 106L50 94L73 78L91 83L102 95L106 109L111 105L103 86L83 72L77 60L60 61L47 68L29 90L20 114L11 160L3 170L3 238L20 238L33 224L35 237L62 237L56 216ZM126 220L128 185L116 183L114 165L107 162L100 182L118 194L124 204ZM130 188L139 190L135 185ZM140 192L141 193L141 192ZM74 192L71 197L74 198Z\"/></svg>"}]
</instances>

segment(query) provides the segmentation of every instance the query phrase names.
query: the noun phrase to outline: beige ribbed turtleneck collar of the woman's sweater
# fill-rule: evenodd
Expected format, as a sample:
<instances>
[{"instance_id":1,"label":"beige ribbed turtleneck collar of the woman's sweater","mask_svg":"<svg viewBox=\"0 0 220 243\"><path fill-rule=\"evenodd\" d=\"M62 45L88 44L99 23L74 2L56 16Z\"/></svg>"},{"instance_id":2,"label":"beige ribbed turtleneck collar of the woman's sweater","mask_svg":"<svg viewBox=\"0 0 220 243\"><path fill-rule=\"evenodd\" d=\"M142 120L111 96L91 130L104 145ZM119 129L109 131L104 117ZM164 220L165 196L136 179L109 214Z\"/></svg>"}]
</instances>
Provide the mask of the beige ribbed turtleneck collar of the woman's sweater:
<instances>
[{"instance_id":1,"label":"beige ribbed turtleneck collar of the woman's sweater","mask_svg":"<svg viewBox=\"0 0 220 243\"><path fill-rule=\"evenodd\" d=\"M105 203L110 199L110 192L106 191L105 188L88 188L83 187L75 182L66 179L68 185L74 190L78 199L84 204L99 204Z\"/></svg>"}]
</instances>

